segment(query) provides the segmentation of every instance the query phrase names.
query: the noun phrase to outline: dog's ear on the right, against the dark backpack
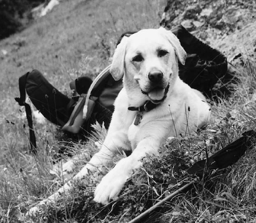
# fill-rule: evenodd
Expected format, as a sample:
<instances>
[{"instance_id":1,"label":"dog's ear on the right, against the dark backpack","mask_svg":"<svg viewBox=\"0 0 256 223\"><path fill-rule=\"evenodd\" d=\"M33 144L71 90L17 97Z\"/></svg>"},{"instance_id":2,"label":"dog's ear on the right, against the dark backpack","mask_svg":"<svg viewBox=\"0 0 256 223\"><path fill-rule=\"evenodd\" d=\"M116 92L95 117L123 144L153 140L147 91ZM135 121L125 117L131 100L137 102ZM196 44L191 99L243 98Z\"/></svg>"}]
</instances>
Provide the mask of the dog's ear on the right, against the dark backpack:
<instances>
[{"instance_id":1,"label":"dog's ear on the right, against the dark backpack","mask_svg":"<svg viewBox=\"0 0 256 223\"><path fill-rule=\"evenodd\" d=\"M175 48L176 56L178 57L178 60L182 65L185 65L185 59L187 56L186 51L183 49L182 45L180 45L180 40L169 30L160 27L159 30L164 33L164 35L167 37L171 45Z\"/></svg>"}]
</instances>

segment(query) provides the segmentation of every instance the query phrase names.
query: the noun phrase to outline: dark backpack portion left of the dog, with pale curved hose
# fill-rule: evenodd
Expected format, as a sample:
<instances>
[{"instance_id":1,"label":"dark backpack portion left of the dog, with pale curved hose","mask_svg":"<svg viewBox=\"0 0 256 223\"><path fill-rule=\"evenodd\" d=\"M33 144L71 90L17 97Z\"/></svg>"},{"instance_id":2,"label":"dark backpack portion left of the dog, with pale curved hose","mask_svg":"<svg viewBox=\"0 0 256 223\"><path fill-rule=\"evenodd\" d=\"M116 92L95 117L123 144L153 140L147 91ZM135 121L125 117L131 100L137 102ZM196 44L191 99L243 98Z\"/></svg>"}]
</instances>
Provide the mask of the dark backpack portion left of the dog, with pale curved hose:
<instances>
[{"instance_id":1,"label":"dark backpack portion left of the dog, with pale curved hose","mask_svg":"<svg viewBox=\"0 0 256 223\"><path fill-rule=\"evenodd\" d=\"M69 83L71 90L74 90L72 98L62 94L53 87L44 75L38 70L27 72L19 78L20 97L15 101L20 106L25 106L28 127L30 129L30 153L36 153L36 139L33 131L32 111L30 104L26 103L26 94L33 103L33 106L50 122L60 126L62 131L78 133L90 133L91 124L97 120L99 124L105 124L108 128L114 101L117 94L123 88L122 80L115 81L108 66L103 70L96 80L88 77L81 77ZM90 92L87 97L87 92ZM87 107L87 117L83 117L84 107Z\"/></svg>"}]
</instances>

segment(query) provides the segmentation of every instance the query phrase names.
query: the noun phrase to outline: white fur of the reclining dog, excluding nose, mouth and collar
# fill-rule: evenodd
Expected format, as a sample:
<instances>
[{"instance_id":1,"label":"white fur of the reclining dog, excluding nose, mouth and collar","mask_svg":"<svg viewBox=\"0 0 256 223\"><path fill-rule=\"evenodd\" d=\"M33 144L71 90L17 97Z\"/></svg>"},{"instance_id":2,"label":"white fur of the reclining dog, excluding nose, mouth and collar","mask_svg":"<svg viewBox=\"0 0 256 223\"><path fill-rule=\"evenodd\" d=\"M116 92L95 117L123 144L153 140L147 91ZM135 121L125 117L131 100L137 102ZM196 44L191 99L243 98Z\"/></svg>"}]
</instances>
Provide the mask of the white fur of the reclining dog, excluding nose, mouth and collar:
<instances>
[{"instance_id":1,"label":"white fur of the reclining dog, excluding nose, mouth and collar","mask_svg":"<svg viewBox=\"0 0 256 223\"><path fill-rule=\"evenodd\" d=\"M94 201L107 204L115 199L133 170L141 167L142 158L146 154L157 155L169 136L191 135L207 124L210 107L205 97L178 77L178 61L184 64L185 56L178 38L164 28L143 29L124 37L117 46L110 72L114 79L123 77L124 88L115 100L103 146L90 160L91 165L85 165L74 179L83 178L89 170L95 171L115 153L123 150L132 154L120 160L101 180ZM162 79L157 83L150 81L152 73L162 73ZM159 104L142 112L141 122L135 126L138 111L130 111L128 107L139 107L148 100ZM58 194L69 188L69 184L64 185ZM49 201L58 194L49 197Z\"/></svg>"}]
</instances>

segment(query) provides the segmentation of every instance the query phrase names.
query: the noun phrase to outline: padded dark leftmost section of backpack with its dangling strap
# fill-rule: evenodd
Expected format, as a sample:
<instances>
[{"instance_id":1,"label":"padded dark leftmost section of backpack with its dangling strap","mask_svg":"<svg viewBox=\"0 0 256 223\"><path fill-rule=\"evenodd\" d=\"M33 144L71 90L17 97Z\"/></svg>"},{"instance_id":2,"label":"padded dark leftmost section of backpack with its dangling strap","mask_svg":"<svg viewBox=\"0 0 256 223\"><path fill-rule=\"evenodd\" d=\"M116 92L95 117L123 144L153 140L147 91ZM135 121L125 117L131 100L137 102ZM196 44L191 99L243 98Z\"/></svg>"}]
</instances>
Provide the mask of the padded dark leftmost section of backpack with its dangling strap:
<instances>
[{"instance_id":1,"label":"padded dark leftmost section of backpack with its dangling strap","mask_svg":"<svg viewBox=\"0 0 256 223\"><path fill-rule=\"evenodd\" d=\"M20 106L25 106L30 128L30 152L36 153L37 144L33 131L32 112L30 105L26 103L26 92L42 115L56 125L65 124L69 118L65 107L70 103L70 99L53 87L38 70L27 72L19 78L19 91L20 97L15 97L15 101Z\"/></svg>"}]
</instances>

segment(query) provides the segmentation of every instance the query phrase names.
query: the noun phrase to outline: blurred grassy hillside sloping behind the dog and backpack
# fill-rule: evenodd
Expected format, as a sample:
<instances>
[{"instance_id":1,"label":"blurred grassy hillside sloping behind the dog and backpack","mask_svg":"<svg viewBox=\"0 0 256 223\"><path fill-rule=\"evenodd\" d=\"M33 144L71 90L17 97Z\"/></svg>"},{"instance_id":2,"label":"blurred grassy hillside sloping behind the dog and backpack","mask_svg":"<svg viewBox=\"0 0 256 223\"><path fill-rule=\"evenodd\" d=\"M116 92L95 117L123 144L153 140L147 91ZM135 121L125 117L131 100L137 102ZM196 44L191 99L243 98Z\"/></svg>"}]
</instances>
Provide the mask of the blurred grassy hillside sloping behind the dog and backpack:
<instances>
[{"instance_id":1,"label":"blurred grassy hillside sloping behind the dog and backpack","mask_svg":"<svg viewBox=\"0 0 256 223\"><path fill-rule=\"evenodd\" d=\"M19 76L38 69L66 92L72 79L96 76L110 63L121 33L157 27L163 5L161 1L63 1L22 33L1 41L0 49L8 52L0 56L1 126L6 126L6 119L17 122L19 106L14 97L19 96ZM6 138L6 131L0 132Z\"/></svg>"}]
</instances>

